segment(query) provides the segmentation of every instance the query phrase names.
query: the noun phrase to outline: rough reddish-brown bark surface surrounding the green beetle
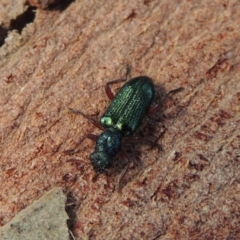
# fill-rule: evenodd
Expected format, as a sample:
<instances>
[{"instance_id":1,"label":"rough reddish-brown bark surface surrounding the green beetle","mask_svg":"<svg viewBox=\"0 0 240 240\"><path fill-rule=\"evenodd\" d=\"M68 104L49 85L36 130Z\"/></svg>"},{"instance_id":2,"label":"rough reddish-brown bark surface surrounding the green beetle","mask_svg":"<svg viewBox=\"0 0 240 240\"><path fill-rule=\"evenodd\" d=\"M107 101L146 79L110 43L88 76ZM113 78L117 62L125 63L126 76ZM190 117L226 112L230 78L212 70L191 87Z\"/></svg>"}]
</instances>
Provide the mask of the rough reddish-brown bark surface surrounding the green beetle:
<instances>
[{"instance_id":1,"label":"rough reddish-brown bark surface surrounding the green beetle","mask_svg":"<svg viewBox=\"0 0 240 240\"><path fill-rule=\"evenodd\" d=\"M30 2L0 3L0 224L62 186L76 239L240 239L240 2ZM124 161L93 181L100 131L68 108L99 119L127 65L156 102L184 91L136 133L163 151L126 146L141 164L119 192Z\"/></svg>"}]
</instances>

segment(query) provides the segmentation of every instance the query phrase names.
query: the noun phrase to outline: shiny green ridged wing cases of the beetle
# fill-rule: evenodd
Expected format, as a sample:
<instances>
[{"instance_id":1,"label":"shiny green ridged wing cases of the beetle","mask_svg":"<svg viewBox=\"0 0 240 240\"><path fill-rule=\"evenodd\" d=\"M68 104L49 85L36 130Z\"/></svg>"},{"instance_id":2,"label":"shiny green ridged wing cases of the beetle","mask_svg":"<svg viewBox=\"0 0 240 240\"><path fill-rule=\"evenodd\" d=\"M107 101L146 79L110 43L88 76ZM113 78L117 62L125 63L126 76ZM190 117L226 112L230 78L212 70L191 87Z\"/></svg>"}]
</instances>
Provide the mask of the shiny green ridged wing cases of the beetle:
<instances>
[{"instance_id":1,"label":"shiny green ridged wing cases of the beetle","mask_svg":"<svg viewBox=\"0 0 240 240\"><path fill-rule=\"evenodd\" d=\"M154 85L146 76L131 79L119 90L101 118L104 128L118 129L123 136L133 134L154 98Z\"/></svg>"}]
</instances>

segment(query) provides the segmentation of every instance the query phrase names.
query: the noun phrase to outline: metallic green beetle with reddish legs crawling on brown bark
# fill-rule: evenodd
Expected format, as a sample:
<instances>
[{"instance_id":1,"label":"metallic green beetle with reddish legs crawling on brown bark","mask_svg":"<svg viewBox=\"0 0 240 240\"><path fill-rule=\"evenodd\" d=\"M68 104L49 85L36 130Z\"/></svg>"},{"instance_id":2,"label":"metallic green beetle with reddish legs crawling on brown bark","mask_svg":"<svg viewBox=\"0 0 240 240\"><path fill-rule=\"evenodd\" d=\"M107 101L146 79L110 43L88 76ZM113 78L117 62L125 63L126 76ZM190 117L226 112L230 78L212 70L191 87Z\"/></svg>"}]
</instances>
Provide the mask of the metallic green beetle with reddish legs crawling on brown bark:
<instances>
[{"instance_id":1,"label":"metallic green beetle with reddish legs crawling on brown bark","mask_svg":"<svg viewBox=\"0 0 240 240\"><path fill-rule=\"evenodd\" d=\"M150 110L155 89L149 77L139 76L130 79L114 97L109 85L121 81L126 80L119 79L106 84L105 91L112 102L100 118L100 123L81 111L70 109L80 113L95 126L104 130L99 136L87 135L88 138L96 140L95 150L91 153L90 160L94 171L98 174L104 172L106 168L112 165L113 158L121 149L122 139L132 136L146 113L148 111L152 112L157 108L156 105Z\"/></svg>"}]
</instances>

